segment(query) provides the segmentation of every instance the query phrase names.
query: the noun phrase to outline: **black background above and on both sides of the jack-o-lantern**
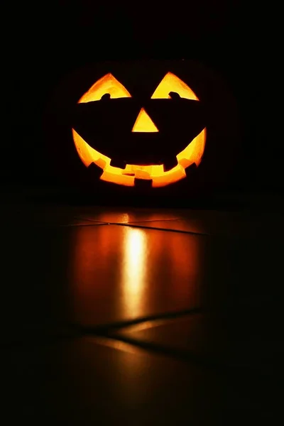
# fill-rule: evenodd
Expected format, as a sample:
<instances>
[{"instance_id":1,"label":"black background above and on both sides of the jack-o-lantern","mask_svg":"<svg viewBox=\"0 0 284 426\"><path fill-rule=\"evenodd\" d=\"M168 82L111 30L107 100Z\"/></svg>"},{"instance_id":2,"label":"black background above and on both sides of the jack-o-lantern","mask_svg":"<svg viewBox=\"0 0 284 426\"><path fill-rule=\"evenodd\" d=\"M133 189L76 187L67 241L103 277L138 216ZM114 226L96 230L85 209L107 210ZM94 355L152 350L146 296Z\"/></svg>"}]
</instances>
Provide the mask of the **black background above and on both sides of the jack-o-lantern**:
<instances>
[{"instance_id":1,"label":"black background above and on both sides of the jack-o-lantern","mask_svg":"<svg viewBox=\"0 0 284 426\"><path fill-rule=\"evenodd\" d=\"M1 181L56 185L43 112L65 75L99 60L195 59L231 87L241 118L240 173L231 190L283 190L278 85L267 6L240 1L10 4L3 15Z\"/></svg>"}]
</instances>

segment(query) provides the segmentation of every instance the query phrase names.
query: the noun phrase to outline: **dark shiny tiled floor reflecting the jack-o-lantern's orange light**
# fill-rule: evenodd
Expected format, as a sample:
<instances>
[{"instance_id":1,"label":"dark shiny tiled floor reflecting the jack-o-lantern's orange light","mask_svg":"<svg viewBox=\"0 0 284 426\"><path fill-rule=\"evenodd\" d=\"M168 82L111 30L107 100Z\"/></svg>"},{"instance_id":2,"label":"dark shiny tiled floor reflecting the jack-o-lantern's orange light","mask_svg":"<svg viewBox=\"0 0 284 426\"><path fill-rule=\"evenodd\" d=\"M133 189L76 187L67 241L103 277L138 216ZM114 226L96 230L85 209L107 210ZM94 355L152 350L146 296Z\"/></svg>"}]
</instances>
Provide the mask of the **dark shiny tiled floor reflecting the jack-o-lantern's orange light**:
<instances>
[{"instance_id":1,"label":"dark shiny tiled floor reflecting the jack-o-lantern's orange light","mask_svg":"<svg viewBox=\"0 0 284 426\"><path fill-rule=\"evenodd\" d=\"M5 204L0 217L7 425L274 419L282 207Z\"/></svg>"}]
</instances>

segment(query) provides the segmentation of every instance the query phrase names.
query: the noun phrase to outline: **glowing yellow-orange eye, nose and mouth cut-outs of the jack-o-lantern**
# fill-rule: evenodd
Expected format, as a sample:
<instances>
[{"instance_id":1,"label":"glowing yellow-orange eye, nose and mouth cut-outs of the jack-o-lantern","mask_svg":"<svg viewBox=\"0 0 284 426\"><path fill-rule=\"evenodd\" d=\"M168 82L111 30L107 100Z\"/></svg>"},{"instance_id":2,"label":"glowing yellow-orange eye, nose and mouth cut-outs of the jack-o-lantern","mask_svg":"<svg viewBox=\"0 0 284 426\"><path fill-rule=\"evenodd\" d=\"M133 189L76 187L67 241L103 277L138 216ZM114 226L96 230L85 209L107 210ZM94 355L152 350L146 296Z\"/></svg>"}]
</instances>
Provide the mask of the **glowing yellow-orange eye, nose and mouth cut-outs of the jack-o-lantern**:
<instances>
[{"instance_id":1,"label":"glowing yellow-orange eye, nose and mouth cut-outs of the jack-o-lantern","mask_svg":"<svg viewBox=\"0 0 284 426\"><path fill-rule=\"evenodd\" d=\"M196 94L192 92L192 89L172 72L168 72L168 74L165 75L157 89L155 89L151 99L169 98L169 92L176 92L180 94L180 97L186 99L199 100ZM111 94L111 98L131 97L131 94L126 88L109 73L95 82L81 97L78 103L97 101L106 93ZM145 109L142 108L132 131L157 132L158 129ZM77 153L86 167L94 163L103 170L100 178L101 180L125 186L133 186L134 178L152 180L153 187L163 187L185 178L185 168L193 163L197 166L200 165L206 141L206 129L203 129L200 134L177 155L178 165L168 170L168 172L164 172L163 165L127 164L125 169L113 167L110 165L111 159L109 157L89 146L74 129L72 129L72 135ZM175 142L173 141L173 143Z\"/></svg>"}]
</instances>

